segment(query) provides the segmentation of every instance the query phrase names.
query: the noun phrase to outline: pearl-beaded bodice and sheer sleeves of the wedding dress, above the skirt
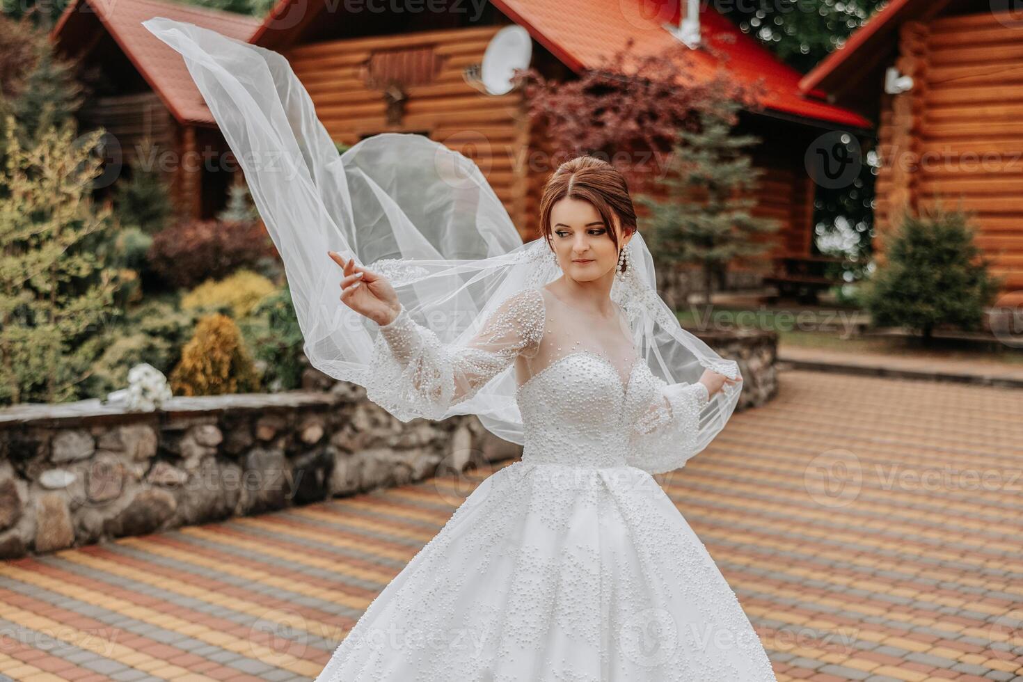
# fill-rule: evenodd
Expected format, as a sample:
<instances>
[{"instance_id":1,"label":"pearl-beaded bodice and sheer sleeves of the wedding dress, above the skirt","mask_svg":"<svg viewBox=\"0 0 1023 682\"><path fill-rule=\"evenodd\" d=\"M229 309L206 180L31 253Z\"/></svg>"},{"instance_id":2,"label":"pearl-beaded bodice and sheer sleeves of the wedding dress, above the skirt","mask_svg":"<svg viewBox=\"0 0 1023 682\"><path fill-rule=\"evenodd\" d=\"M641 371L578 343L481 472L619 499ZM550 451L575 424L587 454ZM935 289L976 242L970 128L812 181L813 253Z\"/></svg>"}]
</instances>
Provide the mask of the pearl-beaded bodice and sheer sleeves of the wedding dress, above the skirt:
<instances>
[{"instance_id":1,"label":"pearl-beaded bodice and sheer sleeves of the wedding dress, above the skirt","mask_svg":"<svg viewBox=\"0 0 1023 682\"><path fill-rule=\"evenodd\" d=\"M514 363L524 462L678 468L697 450L707 389L655 376L615 307L602 317L527 288L462 346L441 343L402 309L381 326L367 396L399 418L439 418Z\"/></svg>"}]
</instances>

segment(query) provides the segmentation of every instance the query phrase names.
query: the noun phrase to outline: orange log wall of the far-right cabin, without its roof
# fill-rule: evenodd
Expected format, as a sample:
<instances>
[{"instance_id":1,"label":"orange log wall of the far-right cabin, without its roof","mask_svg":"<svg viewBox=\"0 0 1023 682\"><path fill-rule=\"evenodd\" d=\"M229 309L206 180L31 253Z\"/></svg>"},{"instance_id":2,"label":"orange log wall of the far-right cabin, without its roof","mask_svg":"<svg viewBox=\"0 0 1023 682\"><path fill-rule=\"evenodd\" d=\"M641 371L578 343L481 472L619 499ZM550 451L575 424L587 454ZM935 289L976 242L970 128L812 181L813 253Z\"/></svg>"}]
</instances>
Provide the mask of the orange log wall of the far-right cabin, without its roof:
<instances>
[{"instance_id":1,"label":"orange log wall of the far-right cabin, without its roof","mask_svg":"<svg viewBox=\"0 0 1023 682\"><path fill-rule=\"evenodd\" d=\"M883 260L903 209L962 201L975 212L991 272L1006 277L1003 293L1023 303L1023 133L1015 125L1023 34L990 11L907 22L899 55L915 85L882 102L875 247Z\"/></svg>"}]
</instances>

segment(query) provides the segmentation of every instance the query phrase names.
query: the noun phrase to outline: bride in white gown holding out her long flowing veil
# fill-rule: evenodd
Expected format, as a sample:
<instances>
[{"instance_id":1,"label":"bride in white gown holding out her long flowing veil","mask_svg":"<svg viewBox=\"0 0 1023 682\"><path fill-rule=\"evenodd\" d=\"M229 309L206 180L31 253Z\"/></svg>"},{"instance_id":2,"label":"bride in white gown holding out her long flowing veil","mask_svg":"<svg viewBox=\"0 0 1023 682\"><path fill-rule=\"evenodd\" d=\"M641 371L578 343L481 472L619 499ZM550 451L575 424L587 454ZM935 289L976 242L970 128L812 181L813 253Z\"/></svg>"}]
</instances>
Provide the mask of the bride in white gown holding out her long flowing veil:
<instances>
[{"instance_id":1,"label":"bride in white gown holding out her long flowing veil","mask_svg":"<svg viewBox=\"0 0 1023 682\"><path fill-rule=\"evenodd\" d=\"M462 154L411 134L339 154L281 55L187 22L142 24L184 57L244 171L310 362L402 421L475 414L523 446L316 679L774 680L735 592L653 478L723 428L742 375L657 294L621 174L589 156L563 164L541 236L523 243Z\"/></svg>"}]
</instances>

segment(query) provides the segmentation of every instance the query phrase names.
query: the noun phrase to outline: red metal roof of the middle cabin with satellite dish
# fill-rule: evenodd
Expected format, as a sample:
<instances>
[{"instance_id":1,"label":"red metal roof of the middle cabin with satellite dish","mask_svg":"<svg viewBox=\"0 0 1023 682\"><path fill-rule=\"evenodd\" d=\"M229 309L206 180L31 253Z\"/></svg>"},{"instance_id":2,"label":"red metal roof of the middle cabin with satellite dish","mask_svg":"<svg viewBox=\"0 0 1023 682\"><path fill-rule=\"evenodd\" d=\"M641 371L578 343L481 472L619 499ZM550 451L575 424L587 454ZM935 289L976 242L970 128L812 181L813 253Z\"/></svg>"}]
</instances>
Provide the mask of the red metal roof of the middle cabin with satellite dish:
<instances>
[{"instance_id":1,"label":"red metal roof of the middle cabin with satellite dish","mask_svg":"<svg viewBox=\"0 0 1023 682\"><path fill-rule=\"evenodd\" d=\"M306 22L314 20L324 0L278 0L267 13L252 42L282 49ZM519 24L554 56L573 71L592 67L602 56L611 56L635 39L633 50L639 55L655 54L675 44L663 24L677 25L678 2L650 3L644 0L491 0L493 5ZM308 3L308 4L307 4ZM320 3L320 4L316 4ZM785 64L767 48L728 18L702 2L701 22L704 40L730 56L728 67L744 82L763 78L767 94L762 105L771 111L800 120L827 122L839 126L871 129L873 124L859 113L816 100L799 90L802 75ZM337 7L337 5L335 5ZM653 7L658 13L650 9ZM337 11L343 11L338 8ZM293 15L301 15L296 20ZM304 19L304 20L303 20ZM353 20L358 20L353 16ZM275 25L282 25L275 26ZM693 52L706 63L716 66L716 59L706 51Z\"/></svg>"}]
</instances>

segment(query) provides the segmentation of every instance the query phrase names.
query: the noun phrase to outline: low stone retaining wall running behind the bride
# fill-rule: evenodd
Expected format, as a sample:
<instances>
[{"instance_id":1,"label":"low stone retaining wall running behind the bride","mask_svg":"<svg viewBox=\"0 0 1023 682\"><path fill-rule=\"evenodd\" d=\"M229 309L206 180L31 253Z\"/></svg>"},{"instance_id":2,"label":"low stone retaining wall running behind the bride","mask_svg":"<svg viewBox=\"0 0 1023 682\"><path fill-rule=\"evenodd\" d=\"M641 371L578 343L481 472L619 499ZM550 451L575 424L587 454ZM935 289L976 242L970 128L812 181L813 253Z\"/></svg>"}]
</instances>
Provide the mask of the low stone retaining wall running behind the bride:
<instances>
[{"instance_id":1,"label":"low stone retaining wall running behind the bride","mask_svg":"<svg viewBox=\"0 0 1023 682\"><path fill-rule=\"evenodd\" d=\"M704 338L740 361L738 409L773 395L773 334ZM157 412L96 400L0 410L0 558L282 509L522 452L475 416L402 423L360 387L328 385L178 397Z\"/></svg>"}]
</instances>

